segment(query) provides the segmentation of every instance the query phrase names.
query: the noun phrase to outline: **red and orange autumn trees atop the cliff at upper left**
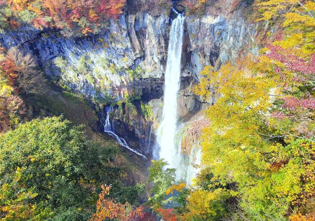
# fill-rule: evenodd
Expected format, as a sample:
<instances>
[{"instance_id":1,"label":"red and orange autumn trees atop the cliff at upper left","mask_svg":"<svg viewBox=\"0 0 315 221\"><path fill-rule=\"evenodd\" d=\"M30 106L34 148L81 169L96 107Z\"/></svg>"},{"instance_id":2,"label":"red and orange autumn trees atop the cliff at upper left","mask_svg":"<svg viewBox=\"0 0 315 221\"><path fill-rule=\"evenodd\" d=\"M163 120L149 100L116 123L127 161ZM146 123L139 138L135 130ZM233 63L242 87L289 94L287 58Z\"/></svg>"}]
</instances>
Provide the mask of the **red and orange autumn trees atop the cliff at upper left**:
<instances>
[{"instance_id":1,"label":"red and orange autumn trees atop the cliff at upper left","mask_svg":"<svg viewBox=\"0 0 315 221\"><path fill-rule=\"evenodd\" d=\"M0 12L6 12L1 26L27 23L35 28L79 28L87 34L97 32L105 20L117 19L125 4L126 0L8 0L0 4Z\"/></svg>"}]
</instances>

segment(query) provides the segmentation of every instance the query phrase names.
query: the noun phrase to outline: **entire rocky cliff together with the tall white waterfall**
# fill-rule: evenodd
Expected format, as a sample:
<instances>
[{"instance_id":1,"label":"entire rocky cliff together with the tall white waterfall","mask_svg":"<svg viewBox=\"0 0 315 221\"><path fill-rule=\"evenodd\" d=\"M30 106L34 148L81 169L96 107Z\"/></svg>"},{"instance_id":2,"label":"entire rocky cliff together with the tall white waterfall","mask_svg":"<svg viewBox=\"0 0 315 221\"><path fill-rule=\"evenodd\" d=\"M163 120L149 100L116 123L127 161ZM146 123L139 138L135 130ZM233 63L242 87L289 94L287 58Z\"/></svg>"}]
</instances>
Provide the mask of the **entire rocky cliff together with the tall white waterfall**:
<instances>
[{"instance_id":1,"label":"entire rocky cliff together with the tall white waterfall","mask_svg":"<svg viewBox=\"0 0 315 221\"><path fill-rule=\"evenodd\" d=\"M207 125L204 121L196 130L189 129L200 122L199 111L209 105L192 92L193 84L202 77L200 71L206 64L233 60L244 45L256 53L252 40L255 27L239 17L246 4L241 3L232 15L218 17L176 18L172 11L172 22L164 13L152 16L126 11L94 36L68 38L58 31L44 33L25 27L1 34L0 41L6 48L18 46L34 55L49 78L96 104L111 105L109 121L115 121L119 143L140 157L159 156L167 159L170 167L185 168L185 172L178 169L183 173L178 176L186 180L187 167L190 165L191 173L192 165L200 159L190 153L200 153L198 134ZM143 114L145 107L150 116ZM99 116L106 116L99 126L105 131L109 112L99 110Z\"/></svg>"}]
</instances>

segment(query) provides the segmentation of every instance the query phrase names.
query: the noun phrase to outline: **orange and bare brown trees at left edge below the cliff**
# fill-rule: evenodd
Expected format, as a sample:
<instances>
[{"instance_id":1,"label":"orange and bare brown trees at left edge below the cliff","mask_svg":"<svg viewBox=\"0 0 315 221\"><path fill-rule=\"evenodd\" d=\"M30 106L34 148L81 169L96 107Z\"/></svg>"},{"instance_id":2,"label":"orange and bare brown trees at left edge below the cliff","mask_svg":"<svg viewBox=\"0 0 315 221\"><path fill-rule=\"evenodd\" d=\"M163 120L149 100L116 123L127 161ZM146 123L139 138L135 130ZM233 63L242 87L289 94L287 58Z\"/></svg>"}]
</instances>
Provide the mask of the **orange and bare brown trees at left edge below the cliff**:
<instances>
[{"instance_id":1,"label":"orange and bare brown trees at left edge below the cliff","mask_svg":"<svg viewBox=\"0 0 315 221\"><path fill-rule=\"evenodd\" d=\"M0 53L0 132L14 128L27 115L22 95L42 94L45 78L30 54L17 48Z\"/></svg>"}]
</instances>

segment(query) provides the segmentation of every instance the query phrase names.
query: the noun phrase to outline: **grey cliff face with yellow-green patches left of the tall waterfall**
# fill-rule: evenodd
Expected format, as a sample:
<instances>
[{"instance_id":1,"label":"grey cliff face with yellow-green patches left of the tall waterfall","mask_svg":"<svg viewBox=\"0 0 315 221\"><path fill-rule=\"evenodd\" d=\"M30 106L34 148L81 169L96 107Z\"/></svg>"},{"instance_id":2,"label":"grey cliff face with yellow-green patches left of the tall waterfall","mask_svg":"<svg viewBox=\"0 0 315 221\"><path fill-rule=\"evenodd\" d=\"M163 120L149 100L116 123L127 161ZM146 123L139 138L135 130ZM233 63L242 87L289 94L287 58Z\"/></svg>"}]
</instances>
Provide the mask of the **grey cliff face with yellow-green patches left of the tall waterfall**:
<instances>
[{"instance_id":1,"label":"grey cliff face with yellow-green patches left of the tall waterfall","mask_svg":"<svg viewBox=\"0 0 315 221\"><path fill-rule=\"evenodd\" d=\"M85 38L23 28L0 35L0 42L6 48L19 46L30 52L48 76L60 77L71 89L88 97L104 97L130 84L134 70L137 78L162 76L167 28L168 17L137 13L121 16L102 34ZM59 68L56 58L61 58Z\"/></svg>"}]
</instances>

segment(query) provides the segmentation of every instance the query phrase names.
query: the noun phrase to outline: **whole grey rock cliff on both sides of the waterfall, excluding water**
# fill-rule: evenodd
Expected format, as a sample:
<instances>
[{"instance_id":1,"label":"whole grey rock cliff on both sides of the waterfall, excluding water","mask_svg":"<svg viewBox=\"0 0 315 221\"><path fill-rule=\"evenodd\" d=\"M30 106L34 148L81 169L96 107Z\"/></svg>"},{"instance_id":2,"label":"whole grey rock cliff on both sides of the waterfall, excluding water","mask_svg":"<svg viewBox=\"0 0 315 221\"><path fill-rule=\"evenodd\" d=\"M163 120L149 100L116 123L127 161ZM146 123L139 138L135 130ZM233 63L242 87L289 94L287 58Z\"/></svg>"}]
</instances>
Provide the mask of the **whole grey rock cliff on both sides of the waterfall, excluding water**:
<instances>
[{"instance_id":1,"label":"whole grey rock cliff on both sides of the waterfall, excluding water","mask_svg":"<svg viewBox=\"0 0 315 221\"><path fill-rule=\"evenodd\" d=\"M194 122L198 112L207 106L192 93L205 65L233 61L248 51L257 54L253 41L256 28L243 18L243 10L244 7L239 7L233 12L221 12L220 16L186 18L178 101L181 122ZM119 101L127 93L141 95L141 102L151 109L150 119L144 116L141 104L136 102L133 102L132 114L131 108L123 105L116 107L111 117L120 136L133 147L150 153L154 145L151 134L158 127L162 114L170 21L165 14L127 11L118 20L110 21L97 35L67 38L57 30L25 27L1 34L0 42L3 47L18 46L23 52L31 53L47 76L89 99L110 97ZM187 126L189 128L189 124ZM149 147L148 134L153 139ZM187 144L185 152L189 153Z\"/></svg>"}]
</instances>

